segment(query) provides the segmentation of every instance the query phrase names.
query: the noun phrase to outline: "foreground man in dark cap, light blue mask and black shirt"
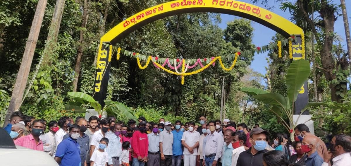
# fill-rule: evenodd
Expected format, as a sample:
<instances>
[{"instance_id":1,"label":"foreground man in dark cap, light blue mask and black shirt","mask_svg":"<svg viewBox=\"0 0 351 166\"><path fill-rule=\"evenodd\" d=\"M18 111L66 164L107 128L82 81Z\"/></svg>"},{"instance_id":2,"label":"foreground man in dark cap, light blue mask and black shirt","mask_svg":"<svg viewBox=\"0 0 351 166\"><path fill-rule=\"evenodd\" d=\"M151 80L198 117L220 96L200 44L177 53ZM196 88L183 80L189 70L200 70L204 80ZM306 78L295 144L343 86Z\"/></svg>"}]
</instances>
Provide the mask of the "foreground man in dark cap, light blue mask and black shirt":
<instances>
[{"instance_id":1,"label":"foreground man in dark cap, light blue mask and black shirt","mask_svg":"<svg viewBox=\"0 0 351 166\"><path fill-rule=\"evenodd\" d=\"M265 148L269 135L269 132L260 127L253 128L249 138L252 146L239 154L237 166L263 166L263 154L268 152Z\"/></svg>"}]
</instances>

